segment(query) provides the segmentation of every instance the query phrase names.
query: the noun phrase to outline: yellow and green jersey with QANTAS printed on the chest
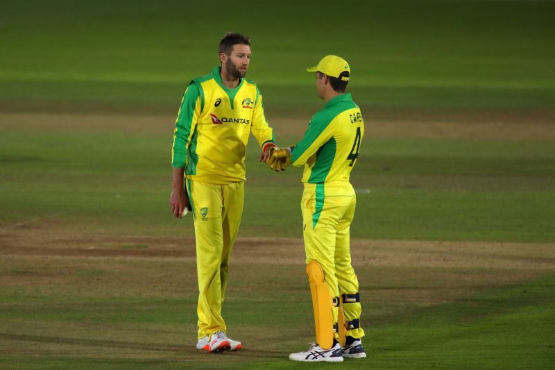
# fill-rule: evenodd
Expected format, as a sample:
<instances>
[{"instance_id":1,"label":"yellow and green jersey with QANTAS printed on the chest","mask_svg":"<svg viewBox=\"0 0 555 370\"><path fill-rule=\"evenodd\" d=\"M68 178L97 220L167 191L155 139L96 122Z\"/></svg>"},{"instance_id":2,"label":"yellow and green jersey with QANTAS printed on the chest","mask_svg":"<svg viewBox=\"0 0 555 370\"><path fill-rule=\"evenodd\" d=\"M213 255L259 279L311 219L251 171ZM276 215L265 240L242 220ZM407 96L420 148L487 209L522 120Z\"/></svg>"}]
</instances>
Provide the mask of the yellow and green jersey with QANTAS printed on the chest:
<instances>
[{"instance_id":1,"label":"yellow and green jersey with QANTAS printed on the chest","mask_svg":"<svg viewBox=\"0 0 555 370\"><path fill-rule=\"evenodd\" d=\"M246 180L249 133L262 151L275 145L257 85L241 78L230 89L223 85L220 71L215 67L212 74L189 83L173 131L172 166L185 167L187 178L200 183Z\"/></svg>"}]
</instances>

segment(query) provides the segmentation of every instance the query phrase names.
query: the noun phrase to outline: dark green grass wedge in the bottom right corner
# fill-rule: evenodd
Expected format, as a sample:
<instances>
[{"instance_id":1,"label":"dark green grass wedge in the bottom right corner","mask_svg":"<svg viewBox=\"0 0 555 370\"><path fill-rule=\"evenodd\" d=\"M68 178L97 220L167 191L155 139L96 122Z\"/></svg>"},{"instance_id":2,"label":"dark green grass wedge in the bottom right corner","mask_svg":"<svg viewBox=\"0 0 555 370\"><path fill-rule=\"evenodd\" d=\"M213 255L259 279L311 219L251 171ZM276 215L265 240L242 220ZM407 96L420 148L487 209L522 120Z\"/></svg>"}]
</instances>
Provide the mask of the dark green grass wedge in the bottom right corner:
<instances>
[{"instance_id":1,"label":"dark green grass wedge in the bottom right corner","mask_svg":"<svg viewBox=\"0 0 555 370\"><path fill-rule=\"evenodd\" d=\"M548 369L555 360L549 276L529 285L461 298L374 330L373 366Z\"/></svg>"}]
</instances>

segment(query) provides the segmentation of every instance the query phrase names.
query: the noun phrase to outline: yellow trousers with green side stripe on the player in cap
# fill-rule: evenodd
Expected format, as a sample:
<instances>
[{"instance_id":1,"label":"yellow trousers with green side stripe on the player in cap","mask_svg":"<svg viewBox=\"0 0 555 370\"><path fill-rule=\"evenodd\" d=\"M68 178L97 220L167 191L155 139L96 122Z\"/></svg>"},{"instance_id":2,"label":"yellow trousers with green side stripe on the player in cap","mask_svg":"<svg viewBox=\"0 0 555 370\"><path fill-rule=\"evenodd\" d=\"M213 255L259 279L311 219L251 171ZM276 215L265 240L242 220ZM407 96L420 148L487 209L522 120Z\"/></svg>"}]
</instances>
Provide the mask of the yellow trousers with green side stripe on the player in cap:
<instances>
[{"instance_id":1,"label":"yellow trousers with green side stripe on the player in cap","mask_svg":"<svg viewBox=\"0 0 555 370\"><path fill-rule=\"evenodd\" d=\"M359 280L351 265L349 229L357 196L348 181L332 183L305 183L301 210L304 227L306 262L318 262L325 274L325 282L332 297L343 297L346 321L360 325L361 305ZM333 308L337 323L337 308ZM347 335L364 337L364 330L352 328ZM339 335L335 333L336 339Z\"/></svg>"}]
</instances>

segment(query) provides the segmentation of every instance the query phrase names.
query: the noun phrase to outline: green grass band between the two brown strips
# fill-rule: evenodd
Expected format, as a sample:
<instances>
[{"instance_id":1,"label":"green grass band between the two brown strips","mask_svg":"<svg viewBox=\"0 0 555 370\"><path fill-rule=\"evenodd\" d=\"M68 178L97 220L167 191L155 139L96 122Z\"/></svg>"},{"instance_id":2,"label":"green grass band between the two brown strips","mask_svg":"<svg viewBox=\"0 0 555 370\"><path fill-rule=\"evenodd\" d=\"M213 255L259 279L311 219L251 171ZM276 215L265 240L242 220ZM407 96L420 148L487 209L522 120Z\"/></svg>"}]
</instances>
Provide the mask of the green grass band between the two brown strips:
<instances>
[{"instance_id":1,"label":"green grass band between the two brown strips","mask_svg":"<svg viewBox=\"0 0 555 370\"><path fill-rule=\"evenodd\" d=\"M191 219L168 210L169 134L22 130L0 138L4 225L44 218L90 232L192 233ZM275 174L250 144L239 235L300 237L301 169ZM554 242L552 148L547 141L369 138L352 174L355 188L370 190L358 196L352 236Z\"/></svg>"}]
</instances>

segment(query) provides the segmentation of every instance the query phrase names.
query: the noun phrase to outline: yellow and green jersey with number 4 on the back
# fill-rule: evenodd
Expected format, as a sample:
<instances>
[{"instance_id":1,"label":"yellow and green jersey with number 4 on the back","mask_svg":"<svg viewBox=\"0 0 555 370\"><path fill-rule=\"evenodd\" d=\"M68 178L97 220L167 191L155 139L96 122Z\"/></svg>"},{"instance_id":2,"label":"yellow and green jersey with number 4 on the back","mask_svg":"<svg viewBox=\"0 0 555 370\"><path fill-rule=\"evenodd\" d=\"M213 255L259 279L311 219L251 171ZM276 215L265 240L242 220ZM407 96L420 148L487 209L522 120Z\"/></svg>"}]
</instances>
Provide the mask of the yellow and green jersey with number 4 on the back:
<instances>
[{"instance_id":1,"label":"yellow and green jersey with number 4 on the back","mask_svg":"<svg viewBox=\"0 0 555 370\"><path fill-rule=\"evenodd\" d=\"M291 162L305 165L303 183L348 182L363 136L364 121L351 94L335 96L312 117Z\"/></svg>"}]
</instances>

